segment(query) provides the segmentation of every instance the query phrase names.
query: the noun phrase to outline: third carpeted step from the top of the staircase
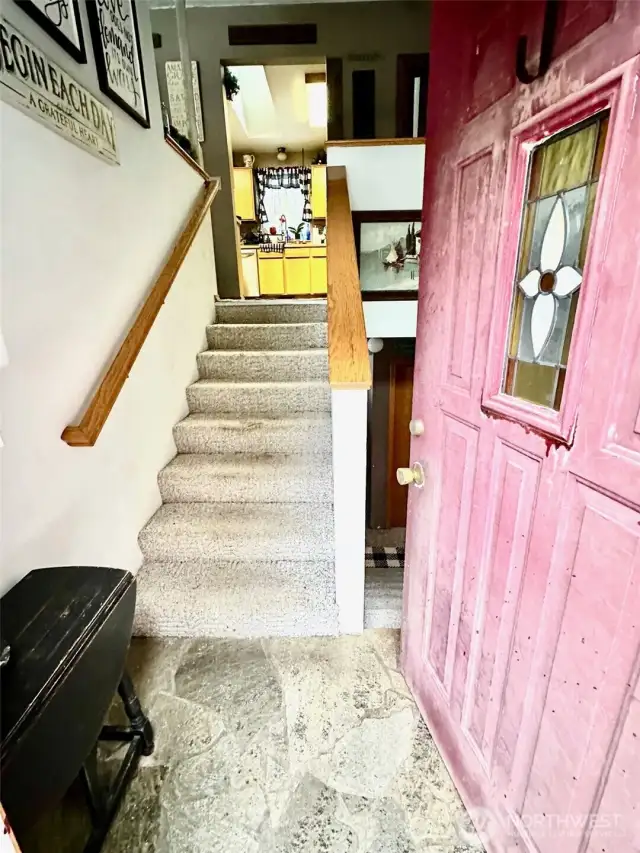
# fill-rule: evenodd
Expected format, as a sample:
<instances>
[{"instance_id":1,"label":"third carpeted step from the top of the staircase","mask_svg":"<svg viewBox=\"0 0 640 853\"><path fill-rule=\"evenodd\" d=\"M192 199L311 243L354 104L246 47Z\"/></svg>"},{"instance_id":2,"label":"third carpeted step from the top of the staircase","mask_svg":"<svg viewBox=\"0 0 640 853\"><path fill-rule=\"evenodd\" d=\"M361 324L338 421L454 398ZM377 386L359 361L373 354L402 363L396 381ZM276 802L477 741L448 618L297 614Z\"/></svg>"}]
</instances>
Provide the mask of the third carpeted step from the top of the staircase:
<instances>
[{"instance_id":1,"label":"third carpeted step from the top of the staircase","mask_svg":"<svg viewBox=\"0 0 640 853\"><path fill-rule=\"evenodd\" d=\"M209 350L198 355L198 370L201 379L235 382L326 381L329 359L324 349Z\"/></svg>"}]
</instances>

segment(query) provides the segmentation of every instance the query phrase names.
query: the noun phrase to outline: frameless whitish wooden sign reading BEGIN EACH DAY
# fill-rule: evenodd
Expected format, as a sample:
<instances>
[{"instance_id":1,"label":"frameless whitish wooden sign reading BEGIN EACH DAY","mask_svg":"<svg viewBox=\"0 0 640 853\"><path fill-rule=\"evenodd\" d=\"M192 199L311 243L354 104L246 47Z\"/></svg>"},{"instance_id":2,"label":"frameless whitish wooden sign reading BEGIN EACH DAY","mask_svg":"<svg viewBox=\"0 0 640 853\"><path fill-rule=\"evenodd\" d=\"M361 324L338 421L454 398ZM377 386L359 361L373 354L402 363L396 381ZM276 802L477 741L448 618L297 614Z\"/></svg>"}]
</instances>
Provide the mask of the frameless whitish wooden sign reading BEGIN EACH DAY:
<instances>
[{"instance_id":1,"label":"frameless whitish wooden sign reading BEGIN EACH DAY","mask_svg":"<svg viewBox=\"0 0 640 853\"><path fill-rule=\"evenodd\" d=\"M0 18L0 96L109 163L118 163L113 113Z\"/></svg>"}]
</instances>

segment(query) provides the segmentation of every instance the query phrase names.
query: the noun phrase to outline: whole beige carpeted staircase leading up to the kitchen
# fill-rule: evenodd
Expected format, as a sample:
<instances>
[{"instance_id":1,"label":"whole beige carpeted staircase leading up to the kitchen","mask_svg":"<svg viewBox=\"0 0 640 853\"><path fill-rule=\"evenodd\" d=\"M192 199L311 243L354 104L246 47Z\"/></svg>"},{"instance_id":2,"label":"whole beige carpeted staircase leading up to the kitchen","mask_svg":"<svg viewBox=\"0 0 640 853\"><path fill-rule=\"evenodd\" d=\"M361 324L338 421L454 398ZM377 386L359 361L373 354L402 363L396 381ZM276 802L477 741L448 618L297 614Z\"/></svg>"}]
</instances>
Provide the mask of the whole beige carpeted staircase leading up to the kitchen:
<instances>
[{"instance_id":1,"label":"whole beige carpeted staircase leading up to the kitchen","mask_svg":"<svg viewBox=\"0 0 640 853\"><path fill-rule=\"evenodd\" d=\"M326 310L218 304L140 533L135 633L337 633Z\"/></svg>"}]
</instances>

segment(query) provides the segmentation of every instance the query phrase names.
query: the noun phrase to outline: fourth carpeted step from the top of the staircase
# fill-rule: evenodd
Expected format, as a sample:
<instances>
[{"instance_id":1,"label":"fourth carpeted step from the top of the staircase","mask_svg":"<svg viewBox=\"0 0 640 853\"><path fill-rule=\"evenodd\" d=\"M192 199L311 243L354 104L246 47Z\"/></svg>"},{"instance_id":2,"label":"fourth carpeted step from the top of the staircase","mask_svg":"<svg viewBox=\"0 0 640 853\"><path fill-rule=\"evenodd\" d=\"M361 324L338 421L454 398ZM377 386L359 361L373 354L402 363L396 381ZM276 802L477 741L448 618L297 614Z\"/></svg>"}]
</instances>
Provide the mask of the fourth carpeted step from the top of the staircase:
<instances>
[{"instance_id":1,"label":"fourth carpeted step from the top of the staircase","mask_svg":"<svg viewBox=\"0 0 640 853\"><path fill-rule=\"evenodd\" d=\"M187 388L190 412L288 415L328 412L328 382L219 382L201 379Z\"/></svg>"}]
</instances>

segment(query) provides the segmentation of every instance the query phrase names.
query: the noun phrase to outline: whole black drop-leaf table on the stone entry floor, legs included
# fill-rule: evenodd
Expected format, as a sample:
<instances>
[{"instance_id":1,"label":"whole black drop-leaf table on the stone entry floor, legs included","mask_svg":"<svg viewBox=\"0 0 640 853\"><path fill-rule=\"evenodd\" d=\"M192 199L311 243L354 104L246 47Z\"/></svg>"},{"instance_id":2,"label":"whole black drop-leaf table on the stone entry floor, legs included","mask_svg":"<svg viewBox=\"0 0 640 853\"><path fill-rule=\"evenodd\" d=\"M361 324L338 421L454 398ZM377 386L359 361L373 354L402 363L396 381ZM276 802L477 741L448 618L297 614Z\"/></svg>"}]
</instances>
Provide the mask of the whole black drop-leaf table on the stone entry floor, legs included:
<instances>
[{"instance_id":1,"label":"whole black drop-leaf table on the stone entry floor, legs included","mask_svg":"<svg viewBox=\"0 0 640 853\"><path fill-rule=\"evenodd\" d=\"M80 775L97 853L153 731L125 672L136 602L129 572L64 566L30 572L0 600L2 805L21 830L58 802ZM6 651L6 649L5 649ZM129 726L103 725L116 690ZM98 740L128 742L109 790L97 772Z\"/></svg>"}]
</instances>

